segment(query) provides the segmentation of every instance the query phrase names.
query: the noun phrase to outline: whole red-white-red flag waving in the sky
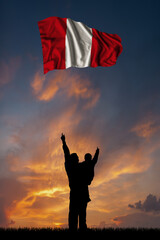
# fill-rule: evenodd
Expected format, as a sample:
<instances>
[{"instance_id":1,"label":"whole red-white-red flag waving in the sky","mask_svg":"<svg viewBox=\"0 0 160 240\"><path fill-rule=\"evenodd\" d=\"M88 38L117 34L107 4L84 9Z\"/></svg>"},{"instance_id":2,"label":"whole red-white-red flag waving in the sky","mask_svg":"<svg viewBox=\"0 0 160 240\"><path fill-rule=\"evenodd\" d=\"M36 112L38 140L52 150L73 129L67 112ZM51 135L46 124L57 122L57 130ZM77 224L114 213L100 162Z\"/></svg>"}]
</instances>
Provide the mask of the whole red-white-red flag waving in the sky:
<instances>
[{"instance_id":1,"label":"whole red-white-red flag waving in the sky","mask_svg":"<svg viewBox=\"0 0 160 240\"><path fill-rule=\"evenodd\" d=\"M38 22L44 73L69 67L109 67L122 52L121 38L70 18L49 17Z\"/></svg>"}]
</instances>

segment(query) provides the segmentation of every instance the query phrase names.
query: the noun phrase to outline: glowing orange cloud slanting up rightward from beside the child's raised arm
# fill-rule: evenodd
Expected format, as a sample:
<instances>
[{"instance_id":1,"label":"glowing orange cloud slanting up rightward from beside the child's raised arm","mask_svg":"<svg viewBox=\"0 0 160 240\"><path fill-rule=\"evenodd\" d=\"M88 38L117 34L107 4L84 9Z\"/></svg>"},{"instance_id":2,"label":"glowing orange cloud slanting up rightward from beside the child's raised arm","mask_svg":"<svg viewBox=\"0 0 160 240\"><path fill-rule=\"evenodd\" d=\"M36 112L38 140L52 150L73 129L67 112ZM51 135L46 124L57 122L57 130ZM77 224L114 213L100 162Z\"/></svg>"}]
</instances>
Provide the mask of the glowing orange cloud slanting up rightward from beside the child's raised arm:
<instances>
[{"instance_id":1,"label":"glowing orange cloud slanting up rightward from beside the child's raised arm","mask_svg":"<svg viewBox=\"0 0 160 240\"><path fill-rule=\"evenodd\" d=\"M100 146L103 145L100 144ZM150 157L152 150L146 150L146 145L137 148L130 146L105 156L102 149L99 161L102 161L103 165L97 172L96 181L92 185L98 187L103 183L118 179L121 175L145 172L153 162Z\"/></svg>"}]
</instances>

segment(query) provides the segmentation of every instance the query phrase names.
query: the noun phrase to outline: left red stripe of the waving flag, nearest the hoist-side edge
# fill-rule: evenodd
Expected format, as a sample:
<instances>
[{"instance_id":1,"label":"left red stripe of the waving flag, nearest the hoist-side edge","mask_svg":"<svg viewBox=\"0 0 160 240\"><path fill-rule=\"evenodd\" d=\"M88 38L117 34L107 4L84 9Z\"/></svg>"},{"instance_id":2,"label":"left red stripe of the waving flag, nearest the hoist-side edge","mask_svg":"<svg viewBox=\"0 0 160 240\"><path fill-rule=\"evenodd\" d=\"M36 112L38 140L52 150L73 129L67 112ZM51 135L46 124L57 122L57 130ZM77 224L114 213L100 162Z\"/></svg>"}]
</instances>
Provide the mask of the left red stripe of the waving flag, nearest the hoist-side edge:
<instances>
[{"instance_id":1,"label":"left red stripe of the waving flag, nearest the hoist-side edge","mask_svg":"<svg viewBox=\"0 0 160 240\"><path fill-rule=\"evenodd\" d=\"M66 18L49 17L38 22L41 36L44 73L65 69Z\"/></svg>"}]
</instances>

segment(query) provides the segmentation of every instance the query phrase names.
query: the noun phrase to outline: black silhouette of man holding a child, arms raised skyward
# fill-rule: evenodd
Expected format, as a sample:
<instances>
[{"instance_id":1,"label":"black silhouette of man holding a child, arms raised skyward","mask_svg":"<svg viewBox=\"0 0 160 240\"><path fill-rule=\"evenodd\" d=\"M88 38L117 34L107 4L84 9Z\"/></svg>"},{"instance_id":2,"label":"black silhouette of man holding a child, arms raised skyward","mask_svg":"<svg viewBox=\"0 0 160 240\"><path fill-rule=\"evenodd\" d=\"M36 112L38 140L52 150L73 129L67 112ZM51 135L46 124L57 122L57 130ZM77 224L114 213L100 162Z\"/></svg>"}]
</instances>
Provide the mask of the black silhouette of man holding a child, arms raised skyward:
<instances>
[{"instance_id":1,"label":"black silhouette of man holding a child, arms raised skyward","mask_svg":"<svg viewBox=\"0 0 160 240\"><path fill-rule=\"evenodd\" d=\"M68 175L70 187L68 216L69 229L77 230L79 216L79 228L81 230L86 230L86 209L88 202L91 201L89 197L88 185L91 183L94 177L94 166L98 160L99 149L97 149L93 160L87 157L89 155L85 155L85 162L79 163L77 154L70 154L64 134L62 134L61 140L63 143L63 151L65 156L65 169Z\"/></svg>"}]
</instances>

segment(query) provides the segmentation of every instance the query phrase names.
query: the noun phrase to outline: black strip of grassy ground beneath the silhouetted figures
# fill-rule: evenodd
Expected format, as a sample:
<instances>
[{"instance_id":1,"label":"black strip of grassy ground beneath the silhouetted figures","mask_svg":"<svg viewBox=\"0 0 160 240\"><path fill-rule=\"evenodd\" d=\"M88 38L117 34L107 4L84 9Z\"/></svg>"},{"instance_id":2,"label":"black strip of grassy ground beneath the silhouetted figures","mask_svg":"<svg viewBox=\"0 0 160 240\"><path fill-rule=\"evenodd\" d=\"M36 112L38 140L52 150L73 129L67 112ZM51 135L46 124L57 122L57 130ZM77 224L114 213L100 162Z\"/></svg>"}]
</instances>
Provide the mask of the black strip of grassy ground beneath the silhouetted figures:
<instances>
[{"instance_id":1,"label":"black strip of grassy ground beneath the silhouetted figures","mask_svg":"<svg viewBox=\"0 0 160 240\"><path fill-rule=\"evenodd\" d=\"M61 237L61 236L84 236L84 237L114 237L114 236L143 236L144 234L151 234L150 236L155 236L156 238L160 236L160 228L159 229L148 229L148 228L105 228L105 229L87 229L85 232L77 231L70 232L68 229L52 229L52 228L0 228L0 234L4 233L5 235L14 236L35 236L35 237L45 237L46 239ZM110 239L109 237L109 239ZM98 239L99 240L99 239Z\"/></svg>"}]
</instances>

